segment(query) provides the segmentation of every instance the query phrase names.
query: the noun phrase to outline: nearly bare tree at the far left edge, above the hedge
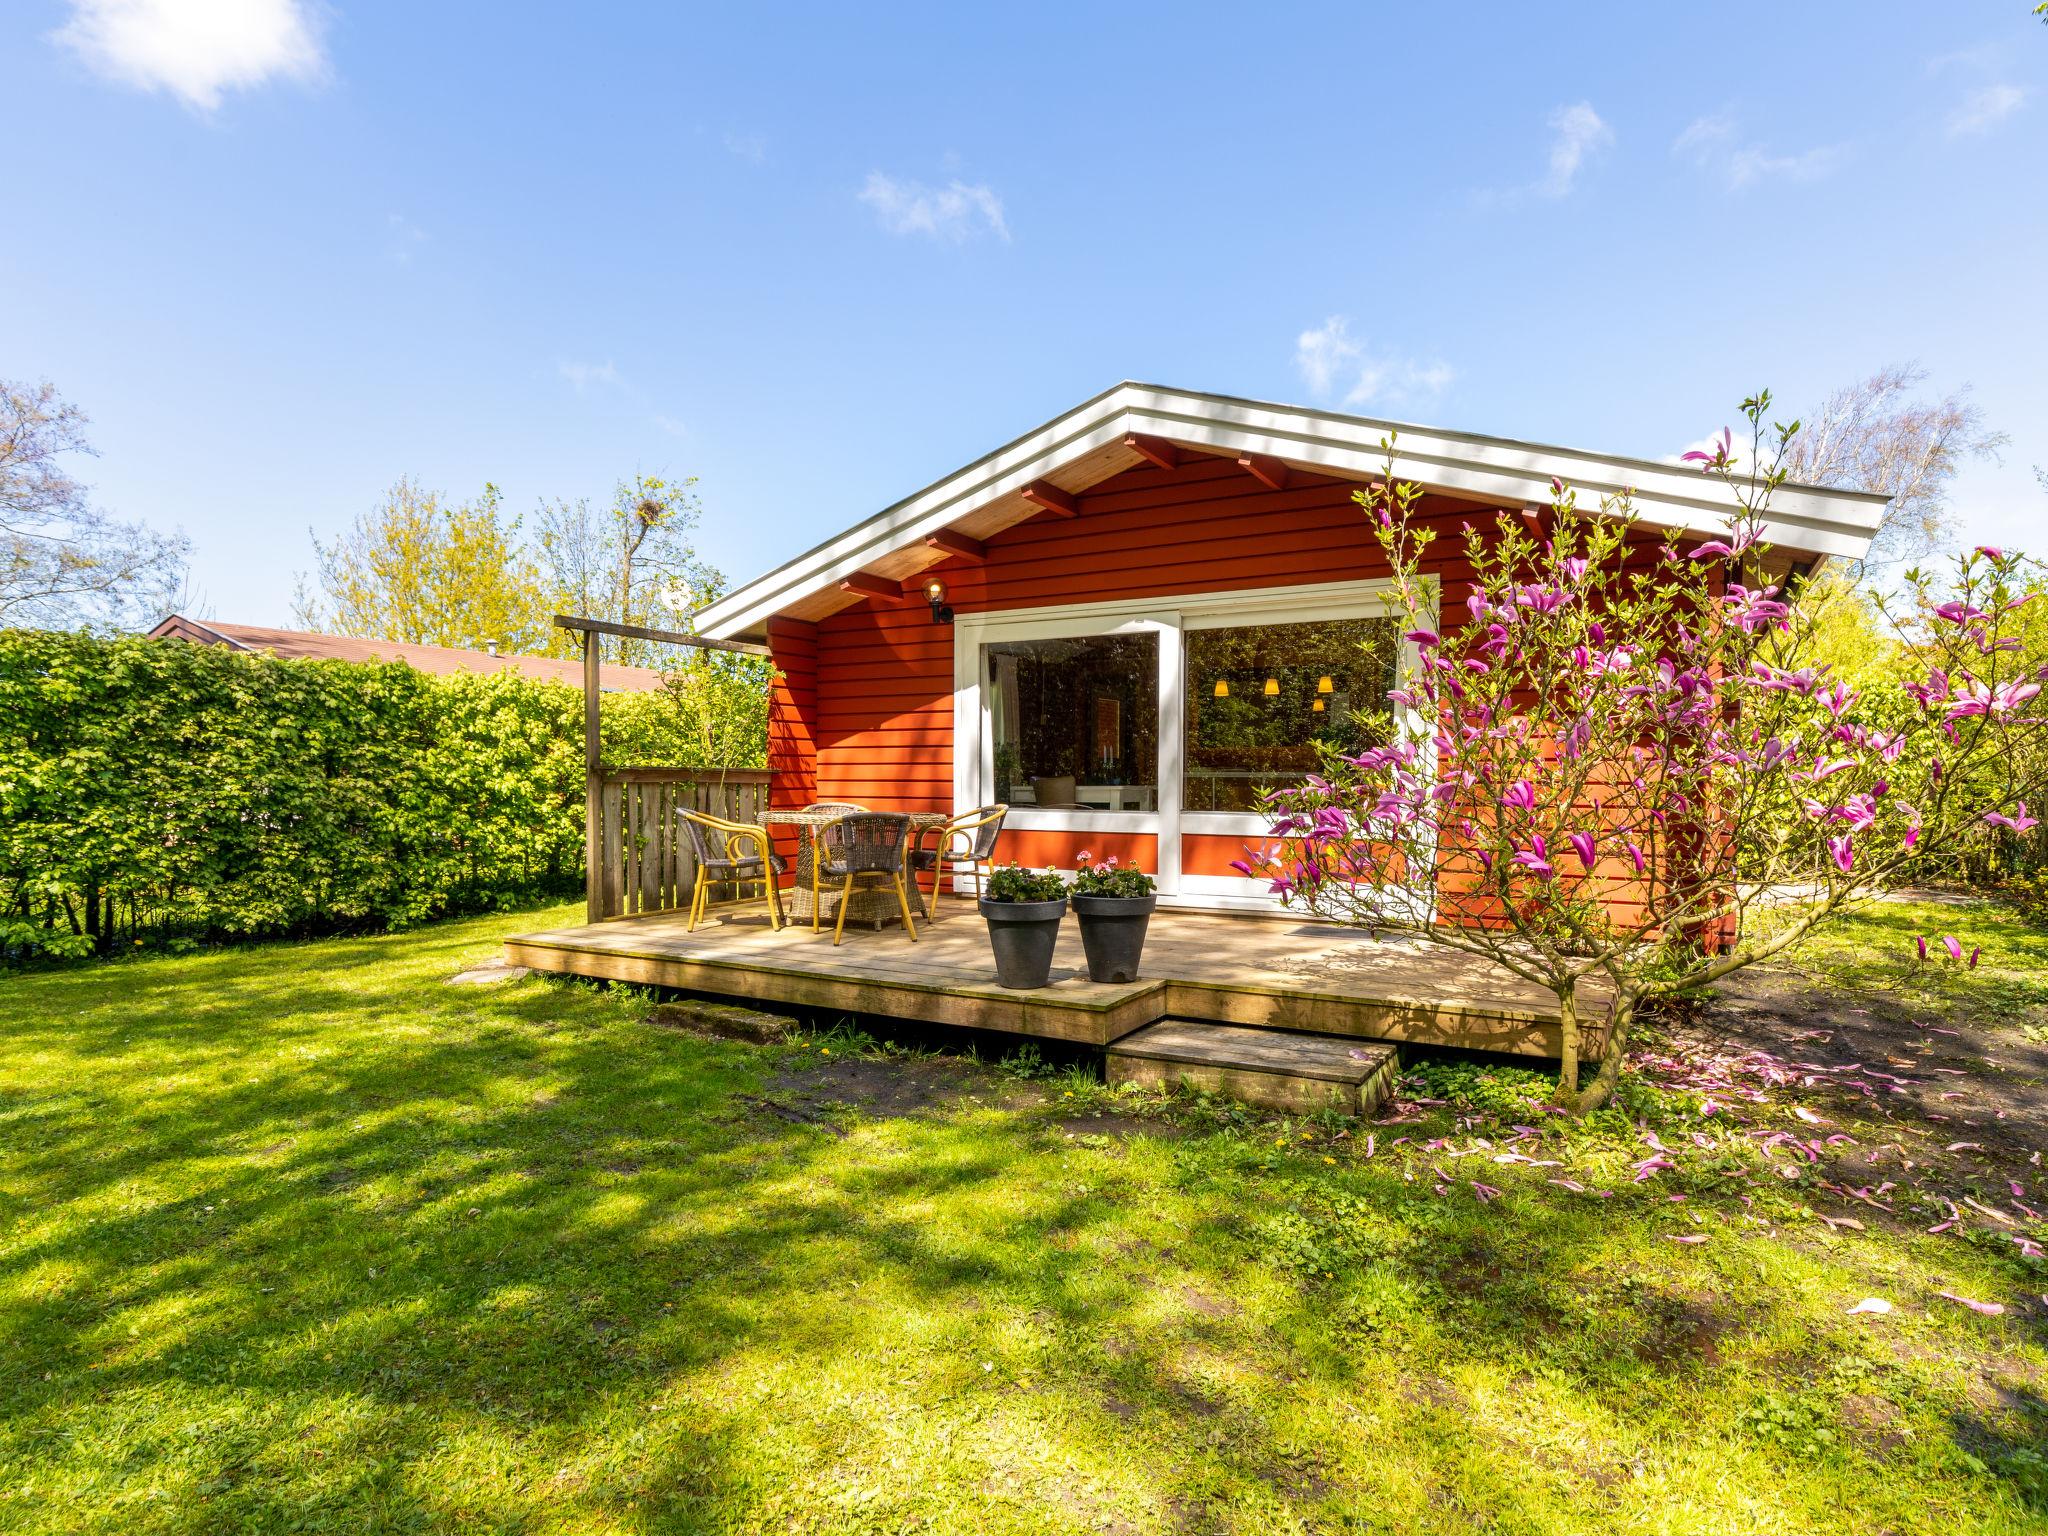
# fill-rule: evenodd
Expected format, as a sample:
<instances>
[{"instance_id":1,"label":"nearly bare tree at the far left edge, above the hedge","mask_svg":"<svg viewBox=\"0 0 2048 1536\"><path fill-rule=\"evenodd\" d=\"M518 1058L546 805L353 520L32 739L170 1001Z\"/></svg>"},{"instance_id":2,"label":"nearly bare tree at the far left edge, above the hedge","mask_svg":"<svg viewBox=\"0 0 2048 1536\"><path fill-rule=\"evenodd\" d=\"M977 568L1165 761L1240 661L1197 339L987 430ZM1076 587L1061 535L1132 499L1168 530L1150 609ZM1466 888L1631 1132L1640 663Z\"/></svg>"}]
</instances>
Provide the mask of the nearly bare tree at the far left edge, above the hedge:
<instances>
[{"instance_id":1,"label":"nearly bare tree at the far left edge, above the hedge","mask_svg":"<svg viewBox=\"0 0 2048 1536\"><path fill-rule=\"evenodd\" d=\"M0 379L0 625L147 625L182 584L184 537L117 522L61 463L90 453L55 385Z\"/></svg>"}]
</instances>

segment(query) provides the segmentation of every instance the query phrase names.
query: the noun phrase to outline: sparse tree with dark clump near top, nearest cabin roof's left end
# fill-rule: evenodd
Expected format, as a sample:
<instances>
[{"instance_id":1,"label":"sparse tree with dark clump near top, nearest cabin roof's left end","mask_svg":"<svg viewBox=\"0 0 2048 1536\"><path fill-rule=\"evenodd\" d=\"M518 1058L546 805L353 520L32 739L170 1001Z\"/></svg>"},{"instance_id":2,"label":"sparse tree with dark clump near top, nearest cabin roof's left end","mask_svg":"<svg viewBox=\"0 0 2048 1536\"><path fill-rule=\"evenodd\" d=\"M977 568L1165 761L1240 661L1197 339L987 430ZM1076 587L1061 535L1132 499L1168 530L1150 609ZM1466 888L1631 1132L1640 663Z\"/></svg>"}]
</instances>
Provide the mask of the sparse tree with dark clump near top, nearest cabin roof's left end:
<instances>
[{"instance_id":1,"label":"sparse tree with dark clump near top, nearest cabin roof's left end","mask_svg":"<svg viewBox=\"0 0 2048 1536\"><path fill-rule=\"evenodd\" d=\"M604 618L645 629L688 629L690 614L719 596L725 578L696 555L690 535L702 516L696 477L623 479L610 506L588 500L541 510L541 569L551 612ZM559 633L551 653L569 655L578 637ZM664 647L637 639L604 639L612 662L659 666Z\"/></svg>"}]
</instances>

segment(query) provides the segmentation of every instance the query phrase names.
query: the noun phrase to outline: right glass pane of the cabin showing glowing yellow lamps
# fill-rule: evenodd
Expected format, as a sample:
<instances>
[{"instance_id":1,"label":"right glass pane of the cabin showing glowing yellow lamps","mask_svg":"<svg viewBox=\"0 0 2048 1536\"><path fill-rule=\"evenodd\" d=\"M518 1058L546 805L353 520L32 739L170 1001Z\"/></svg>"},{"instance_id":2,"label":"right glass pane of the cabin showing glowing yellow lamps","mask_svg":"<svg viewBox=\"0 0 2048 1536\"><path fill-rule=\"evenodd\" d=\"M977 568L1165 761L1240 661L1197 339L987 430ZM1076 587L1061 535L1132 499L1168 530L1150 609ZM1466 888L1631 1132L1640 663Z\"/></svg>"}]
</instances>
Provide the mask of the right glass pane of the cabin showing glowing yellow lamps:
<instances>
[{"instance_id":1,"label":"right glass pane of the cabin showing glowing yellow lamps","mask_svg":"<svg viewBox=\"0 0 2048 1536\"><path fill-rule=\"evenodd\" d=\"M1188 629L1186 811L1255 811L1298 784L1317 743L1386 739L1399 637L1391 618Z\"/></svg>"}]
</instances>

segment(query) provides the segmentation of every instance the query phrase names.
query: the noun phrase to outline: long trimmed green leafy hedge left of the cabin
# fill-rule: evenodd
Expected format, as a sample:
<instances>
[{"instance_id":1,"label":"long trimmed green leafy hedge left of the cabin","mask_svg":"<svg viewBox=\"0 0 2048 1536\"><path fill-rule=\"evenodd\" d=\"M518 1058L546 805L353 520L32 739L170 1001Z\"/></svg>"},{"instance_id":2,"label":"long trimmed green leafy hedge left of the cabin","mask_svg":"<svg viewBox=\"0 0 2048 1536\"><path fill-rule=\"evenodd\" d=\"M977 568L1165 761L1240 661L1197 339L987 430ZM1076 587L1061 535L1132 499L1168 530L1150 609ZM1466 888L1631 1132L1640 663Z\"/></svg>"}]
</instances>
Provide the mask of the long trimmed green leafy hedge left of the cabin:
<instances>
[{"instance_id":1,"label":"long trimmed green leafy hedge left of the cabin","mask_svg":"<svg viewBox=\"0 0 2048 1536\"><path fill-rule=\"evenodd\" d=\"M702 762L692 700L764 696L729 672L700 670L709 690L682 702L608 696L606 760ZM758 739L741 721L727 766L758 766L764 743L764 719ZM580 889L582 854L575 688L0 631L0 946L16 963L489 911Z\"/></svg>"}]
</instances>

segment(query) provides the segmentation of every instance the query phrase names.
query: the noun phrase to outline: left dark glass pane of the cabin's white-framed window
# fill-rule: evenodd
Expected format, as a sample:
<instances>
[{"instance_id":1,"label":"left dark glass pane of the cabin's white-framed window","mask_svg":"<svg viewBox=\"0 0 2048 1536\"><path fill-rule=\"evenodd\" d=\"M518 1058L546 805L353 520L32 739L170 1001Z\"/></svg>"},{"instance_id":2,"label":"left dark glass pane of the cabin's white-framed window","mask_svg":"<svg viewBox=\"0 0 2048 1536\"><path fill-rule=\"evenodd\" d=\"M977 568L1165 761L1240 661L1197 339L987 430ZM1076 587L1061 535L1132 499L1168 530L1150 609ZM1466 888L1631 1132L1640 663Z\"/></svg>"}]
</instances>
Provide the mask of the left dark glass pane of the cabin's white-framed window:
<instances>
[{"instance_id":1,"label":"left dark glass pane of the cabin's white-framed window","mask_svg":"<svg viewBox=\"0 0 2048 1536\"><path fill-rule=\"evenodd\" d=\"M999 641L981 657L997 801L1159 809L1159 635Z\"/></svg>"}]
</instances>

